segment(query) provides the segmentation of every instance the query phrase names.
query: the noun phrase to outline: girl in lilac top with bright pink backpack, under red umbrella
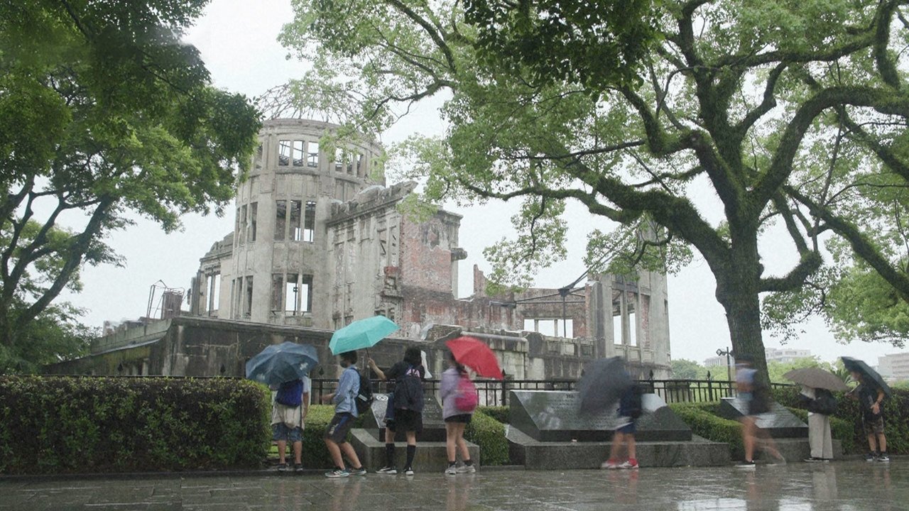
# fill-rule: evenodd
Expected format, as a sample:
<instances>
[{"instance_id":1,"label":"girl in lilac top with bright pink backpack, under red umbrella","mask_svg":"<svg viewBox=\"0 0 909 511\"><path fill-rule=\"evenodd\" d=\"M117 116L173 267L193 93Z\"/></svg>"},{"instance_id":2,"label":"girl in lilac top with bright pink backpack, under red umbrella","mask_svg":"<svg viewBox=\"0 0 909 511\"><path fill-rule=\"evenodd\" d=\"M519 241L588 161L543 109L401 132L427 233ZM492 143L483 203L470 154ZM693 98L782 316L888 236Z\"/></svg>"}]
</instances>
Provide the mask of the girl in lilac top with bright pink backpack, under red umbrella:
<instances>
[{"instance_id":1,"label":"girl in lilac top with bright pink backpack, under red umbrella","mask_svg":"<svg viewBox=\"0 0 909 511\"><path fill-rule=\"evenodd\" d=\"M439 383L439 394L442 396L442 418L445 420L445 449L448 454L448 468L445 475L454 476L459 473L473 474L476 472L474 461L470 459L470 451L464 442L464 428L470 424L472 414L479 398L476 387L470 381L467 370L458 364L454 355L448 352L448 368L442 373ZM457 450L461 451L463 466L457 466Z\"/></svg>"}]
</instances>

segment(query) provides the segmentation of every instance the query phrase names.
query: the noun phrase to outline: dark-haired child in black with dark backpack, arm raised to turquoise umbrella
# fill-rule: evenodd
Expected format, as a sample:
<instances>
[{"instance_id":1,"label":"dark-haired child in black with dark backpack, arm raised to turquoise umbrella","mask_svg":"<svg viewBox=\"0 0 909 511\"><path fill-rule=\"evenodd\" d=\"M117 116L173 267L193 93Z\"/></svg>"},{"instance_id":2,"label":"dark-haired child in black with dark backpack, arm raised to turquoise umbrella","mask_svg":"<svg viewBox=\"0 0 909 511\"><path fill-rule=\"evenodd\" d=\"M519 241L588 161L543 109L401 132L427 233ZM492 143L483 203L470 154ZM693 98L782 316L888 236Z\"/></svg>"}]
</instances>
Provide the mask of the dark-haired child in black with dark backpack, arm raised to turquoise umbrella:
<instances>
[{"instance_id":1,"label":"dark-haired child in black with dark backpack, arm raised to turquoise umbrella","mask_svg":"<svg viewBox=\"0 0 909 511\"><path fill-rule=\"evenodd\" d=\"M391 369L382 371L369 359L369 368L380 380L388 381L388 406L385 410L385 466L379 474L398 473L395 466L395 433L404 431L407 439L407 461L405 476L414 475L416 456L416 435L423 432L423 380L426 369L420 349L411 346L405 350L404 360L395 363Z\"/></svg>"}]
</instances>

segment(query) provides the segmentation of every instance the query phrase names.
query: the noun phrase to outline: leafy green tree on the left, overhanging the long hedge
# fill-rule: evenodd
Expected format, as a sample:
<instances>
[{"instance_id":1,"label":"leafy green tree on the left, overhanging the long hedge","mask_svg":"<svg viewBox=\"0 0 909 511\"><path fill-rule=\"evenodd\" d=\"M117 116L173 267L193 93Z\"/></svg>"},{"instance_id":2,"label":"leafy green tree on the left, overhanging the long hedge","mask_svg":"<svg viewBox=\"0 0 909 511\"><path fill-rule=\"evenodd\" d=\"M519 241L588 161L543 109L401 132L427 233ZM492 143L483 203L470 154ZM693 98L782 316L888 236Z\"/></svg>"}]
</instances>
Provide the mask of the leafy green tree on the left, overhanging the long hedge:
<instances>
[{"instance_id":1,"label":"leafy green tree on the left, overhanging the long hedge","mask_svg":"<svg viewBox=\"0 0 909 511\"><path fill-rule=\"evenodd\" d=\"M35 334L43 321L73 317L51 307L80 266L119 262L105 237L130 225L129 214L179 228L185 213L220 214L245 175L259 115L244 96L213 88L198 52L180 41L205 4L0 3L7 358L45 359L26 345L45 343Z\"/></svg>"}]
</instances>

